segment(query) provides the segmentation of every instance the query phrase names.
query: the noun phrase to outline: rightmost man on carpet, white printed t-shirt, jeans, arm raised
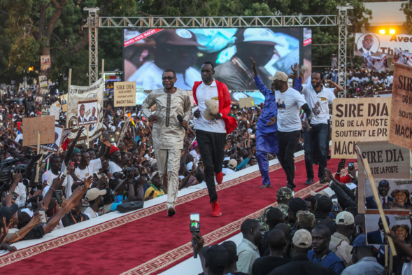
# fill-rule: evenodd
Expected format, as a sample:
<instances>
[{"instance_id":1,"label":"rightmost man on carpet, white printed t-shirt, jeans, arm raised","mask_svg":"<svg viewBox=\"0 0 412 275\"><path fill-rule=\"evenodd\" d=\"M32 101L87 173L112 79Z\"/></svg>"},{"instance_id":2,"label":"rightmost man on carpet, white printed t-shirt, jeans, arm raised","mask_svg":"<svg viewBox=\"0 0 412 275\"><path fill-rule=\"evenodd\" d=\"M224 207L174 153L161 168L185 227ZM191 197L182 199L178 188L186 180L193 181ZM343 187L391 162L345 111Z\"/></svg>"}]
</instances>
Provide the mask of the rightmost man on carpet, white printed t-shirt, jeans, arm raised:
<instances>
[{"instance_id":1,"label":"rightmost man on carpet, white printed t-shirt, jeans, arm raised","mask_svg":"<svg viewBox=\"0 0 412 275\"><path fill-rule=\"evenodd\" d=\"M304 127L306 185L313 183L313 154L316 153L319 155L318 176L320 183L326 183L325 168L327 155L329 154L329 105L332 105L332 102L336 98L335 93L343 91L343 89L332 80L327 80L327 83L333 85L334 89L323 86L322 82L323 74L320 71L314 71L311 77L311 84L303 84L301 90L312 111L310 131ZM315 142L318 143L319 152L314 152L313 150Z\"/></svg>"}]
</instances>

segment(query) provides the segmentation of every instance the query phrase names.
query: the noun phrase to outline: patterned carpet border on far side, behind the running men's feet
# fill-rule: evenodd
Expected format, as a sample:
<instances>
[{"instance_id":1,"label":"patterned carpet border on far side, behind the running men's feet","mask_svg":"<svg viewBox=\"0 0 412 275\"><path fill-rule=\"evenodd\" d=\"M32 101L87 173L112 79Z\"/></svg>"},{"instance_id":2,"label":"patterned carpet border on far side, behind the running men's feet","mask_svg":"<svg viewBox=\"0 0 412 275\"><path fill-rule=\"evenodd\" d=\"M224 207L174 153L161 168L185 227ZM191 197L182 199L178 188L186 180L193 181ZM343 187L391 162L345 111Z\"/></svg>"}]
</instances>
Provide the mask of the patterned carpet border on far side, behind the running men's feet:
<instances>
[{"instance_id":1,"label":"patterned carpet border on far side, behind the running men's feet","mask_svg":"<svg viewBox=\"0 0 412 275\"><path fill-rule=\"evenodd\" d=\"M299 157L294 158L295 162L299 162L301 160L304 160L304 155L301 155ZM280 169L280 164L274 164L269 167L269 172L275 171L277 169ZM240 183L243 183L245 181L249 181L250 179L256 178L260 176L260 171L255 171L250 174L246 174L244 176L240 176L239 178L234 178L231 181L227 181L225 183L222 183L220 185L216 185L216 190L223 190L226 188L230 188L234 185L238 185ZM193 192L191 194L185 195L183 197L179 197L176 205L180 204L185 204L186 202L190 202L194 199L199 199L199 197L203 197L208 195L208 190L203 189L199 190L197 192ZM14 262L18 262L20 260L24 260L26 258L33 257L34 255L38 255L40 253L43 253L45 251L49 251L54 248L58 248L59 246L64 246L66 244L70 244L73 241L79 241L81 239L85 239L87 237L93 236L95 234L99 234L101 232L105 232L107 230L111 230L115 227L119 227L121 225L125 225L126 223L133 222L135 220L139 220L141 218L145 218L147 216L150 216L155 213L159 213L160 211L165 211L165 206L164 204L157 204L155 206L151 206L147 209L142 209L141 211L136 211L133 213L130 213L126 216L122 216L119 218L115 218L113 220L109 220L105 223L101 223L99 225L94 225L92 227L88 227L84 230L80 230L78 232L73 232L71 234L67 234L63 237L58 237L56 239L52 239L50 241L45 241L41 244L37 244L35 246L29 246L28 248L23 248L19 251L15 251L13 253L8 253L2 257L0 257L0 267L4 267L6 265L10 265ZM240 226L240 225L239 225ZM178 248L176 248L178 249ZM176 250L175 249L175 250Z\"/></svg>"}]
</instances>

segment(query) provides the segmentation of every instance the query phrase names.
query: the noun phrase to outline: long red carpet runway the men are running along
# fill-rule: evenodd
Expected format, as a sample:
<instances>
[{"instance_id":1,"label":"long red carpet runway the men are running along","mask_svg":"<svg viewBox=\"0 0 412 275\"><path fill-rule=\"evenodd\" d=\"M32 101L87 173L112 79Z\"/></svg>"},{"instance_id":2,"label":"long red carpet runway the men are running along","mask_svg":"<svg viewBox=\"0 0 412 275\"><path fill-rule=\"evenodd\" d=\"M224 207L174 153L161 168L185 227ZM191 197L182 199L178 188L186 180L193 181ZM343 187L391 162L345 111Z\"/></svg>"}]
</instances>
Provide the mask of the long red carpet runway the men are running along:
<instances>
[{"instance_id":1,"label":"long red carpet runway the men are running along","mask_svg":"<svg viewBox=\"0 0 412 275\"><path fill-rule=\"evenodd\" d=\"M304 185L304 156L297 157L295 196L327 185ZM330 160L334 170L339 160ZM318 167L313 167L315 174ZM158 204L73 234L24 248L0 258L3 274L159 274L190 256L190 213L199 212L206 244L218 243L240 232L246 218L259 216L276 202L276 191L286 177L279 165L271 167L271 189L259 189L260 172L218 185L223 216L211 217L207 190L180 197L176 216L166 216ZM302 190L303 189L303 190ZM299 191L300 190L300 191Z\"/></svg>"}]
</instances>

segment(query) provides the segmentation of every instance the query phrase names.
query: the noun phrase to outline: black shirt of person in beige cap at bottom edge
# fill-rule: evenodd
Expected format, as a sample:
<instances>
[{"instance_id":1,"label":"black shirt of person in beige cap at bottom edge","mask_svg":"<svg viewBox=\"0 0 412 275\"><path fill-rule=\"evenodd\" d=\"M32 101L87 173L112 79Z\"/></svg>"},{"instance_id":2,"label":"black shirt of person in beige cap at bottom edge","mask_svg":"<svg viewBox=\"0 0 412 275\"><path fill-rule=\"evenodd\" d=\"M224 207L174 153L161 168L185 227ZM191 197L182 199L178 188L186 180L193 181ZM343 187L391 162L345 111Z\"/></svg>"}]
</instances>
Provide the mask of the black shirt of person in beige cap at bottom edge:
<instances>
[{"instance_id":1,"label":"black shirt of person in beige cap at bottom edge","mask_svg":"<svg viewBox=\"0 0 412 275\"><path fill-rule=\"evenodd\" d=\"M308 256L297 256L281 267L276 267L269 275L336 275L332 270L315 264L308 259Z\"/></svg>"}]
</instances>

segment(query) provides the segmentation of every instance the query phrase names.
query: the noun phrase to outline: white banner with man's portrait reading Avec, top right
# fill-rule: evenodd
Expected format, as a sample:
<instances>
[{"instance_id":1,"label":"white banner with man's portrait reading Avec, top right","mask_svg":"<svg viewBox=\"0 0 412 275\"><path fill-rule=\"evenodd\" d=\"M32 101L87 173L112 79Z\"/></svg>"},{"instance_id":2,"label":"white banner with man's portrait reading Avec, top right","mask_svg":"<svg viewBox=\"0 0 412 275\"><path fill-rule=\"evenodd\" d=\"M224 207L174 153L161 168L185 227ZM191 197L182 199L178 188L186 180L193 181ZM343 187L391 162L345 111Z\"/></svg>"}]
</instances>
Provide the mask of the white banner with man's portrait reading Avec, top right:
<instances>
[{"instance_id":1,"label":"white banner with man's portrait reading Avec, top right","mask_svg":"<svg viewBox=\"0 0 412 275\"><path fill-rule=\"evenodd\" d=\"M407 50L412 52L412 35L406 34L355 34L355 56L363 56L364 53L372 56L393 57L395 51Z\"/></svg>"}]
</instances>

